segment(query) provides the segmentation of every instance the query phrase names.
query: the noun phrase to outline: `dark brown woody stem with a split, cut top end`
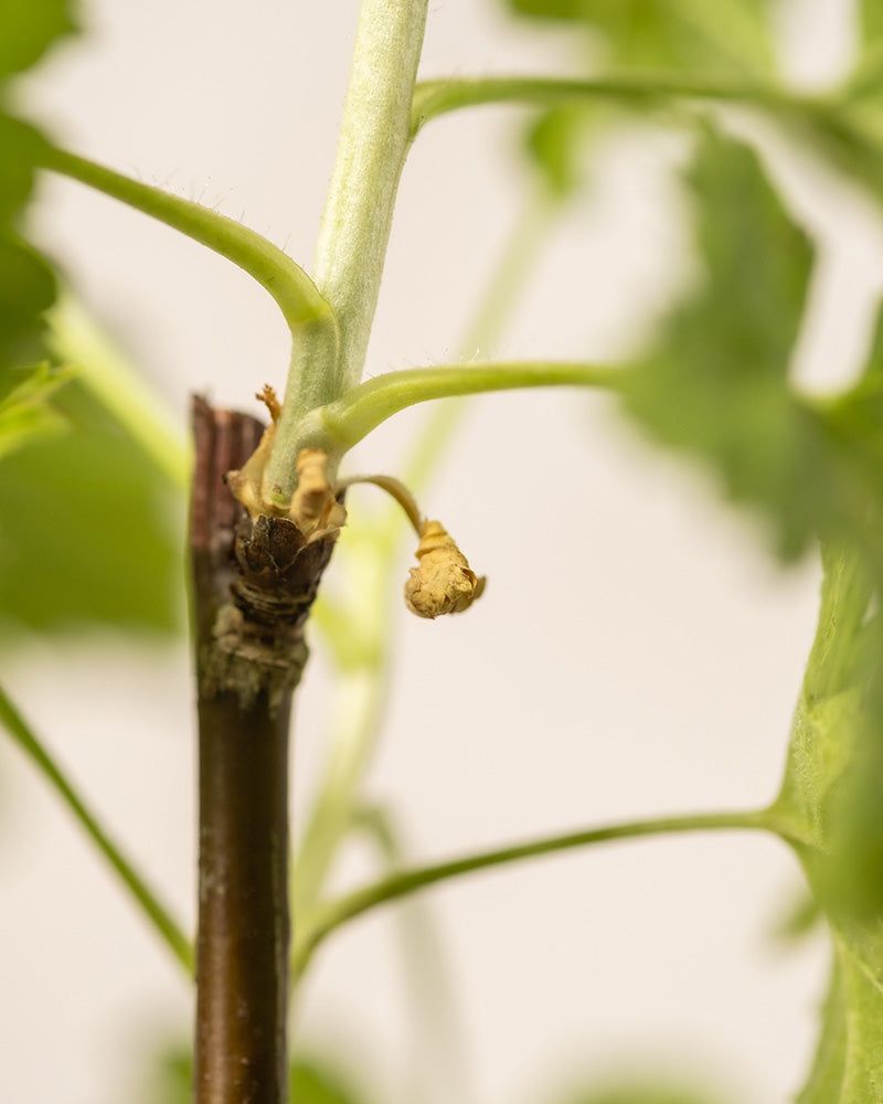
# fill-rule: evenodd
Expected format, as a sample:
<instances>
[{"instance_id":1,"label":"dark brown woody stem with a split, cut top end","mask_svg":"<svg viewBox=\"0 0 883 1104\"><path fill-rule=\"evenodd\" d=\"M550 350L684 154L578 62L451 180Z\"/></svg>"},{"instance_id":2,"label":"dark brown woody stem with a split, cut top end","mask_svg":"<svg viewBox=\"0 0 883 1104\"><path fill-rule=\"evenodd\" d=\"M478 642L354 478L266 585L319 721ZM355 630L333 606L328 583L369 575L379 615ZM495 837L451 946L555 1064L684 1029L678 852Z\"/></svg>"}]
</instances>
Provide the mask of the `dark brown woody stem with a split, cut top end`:
<instances>
[{"instance_id":1,"label":"dark brown woody stem with a split, cut top end","mask_svg":"<svg viewBox=\"0 0 883 1104\"><path fill-rule=\"evenodd\" d=\"M199 698L196 1104L287 1098L288 729L304 623L332 540L252 520L224 475L262 426L193 407L191 516Z\"/></svg>"}]
</instances>

